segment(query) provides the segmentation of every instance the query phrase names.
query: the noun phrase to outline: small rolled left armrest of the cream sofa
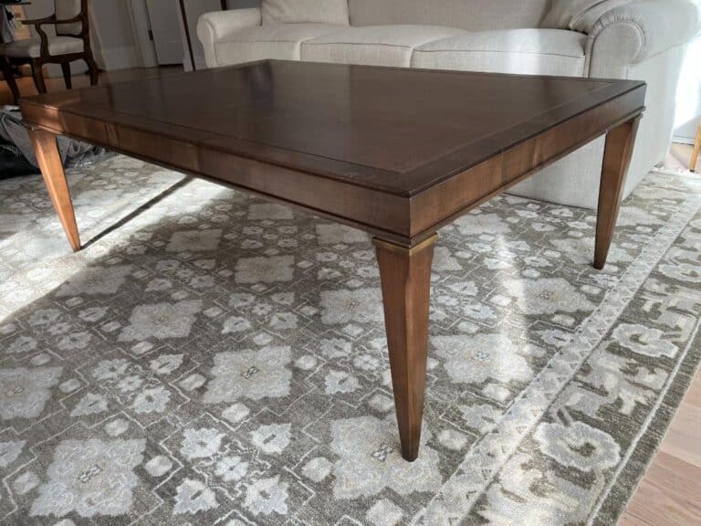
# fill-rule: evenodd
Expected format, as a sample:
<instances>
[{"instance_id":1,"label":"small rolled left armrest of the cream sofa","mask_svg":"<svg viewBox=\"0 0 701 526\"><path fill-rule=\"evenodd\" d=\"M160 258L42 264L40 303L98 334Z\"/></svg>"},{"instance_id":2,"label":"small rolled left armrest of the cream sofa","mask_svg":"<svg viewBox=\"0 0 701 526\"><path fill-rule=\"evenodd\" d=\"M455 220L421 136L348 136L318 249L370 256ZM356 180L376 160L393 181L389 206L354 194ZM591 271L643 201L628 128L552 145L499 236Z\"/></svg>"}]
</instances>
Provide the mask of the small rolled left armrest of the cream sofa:
<instances>
[{"instance_id":1,"label":"small rolled left armrest of the cream sofa","mask_svg":"<svg viewBox=\"0 0 701 526\"><path fill-rule=\"evenodd\" d=\"M204 47L207 68L219 66L215 47L218 42L225 42L228 37L235 35L241 29L260 26L261 23L260 7L229 9L228 11L205 13L200 16L197 22L197 37Z\"/></svg>"}]
</instances>

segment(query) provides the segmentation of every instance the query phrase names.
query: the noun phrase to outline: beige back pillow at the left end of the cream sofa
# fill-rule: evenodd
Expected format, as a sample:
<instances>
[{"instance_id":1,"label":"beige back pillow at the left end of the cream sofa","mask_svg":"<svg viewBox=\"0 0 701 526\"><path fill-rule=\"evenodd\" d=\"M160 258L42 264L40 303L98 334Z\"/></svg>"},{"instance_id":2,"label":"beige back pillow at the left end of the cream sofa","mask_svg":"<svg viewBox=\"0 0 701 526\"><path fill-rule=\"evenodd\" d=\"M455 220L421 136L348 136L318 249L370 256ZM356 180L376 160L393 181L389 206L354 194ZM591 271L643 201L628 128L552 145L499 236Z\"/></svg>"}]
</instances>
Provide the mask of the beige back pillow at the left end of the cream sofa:
<instances>
[{"instance_id":1,"label":"beige back pillow at the left end of the cream sofa","mask_svg":"<svg viewBox=\"0 0 701 526\"><path fill-rule=\"evenodd\" d=\"M349 24L348 0L263 0L262 10L263 24Z\"/></svg>"}]
</instances>

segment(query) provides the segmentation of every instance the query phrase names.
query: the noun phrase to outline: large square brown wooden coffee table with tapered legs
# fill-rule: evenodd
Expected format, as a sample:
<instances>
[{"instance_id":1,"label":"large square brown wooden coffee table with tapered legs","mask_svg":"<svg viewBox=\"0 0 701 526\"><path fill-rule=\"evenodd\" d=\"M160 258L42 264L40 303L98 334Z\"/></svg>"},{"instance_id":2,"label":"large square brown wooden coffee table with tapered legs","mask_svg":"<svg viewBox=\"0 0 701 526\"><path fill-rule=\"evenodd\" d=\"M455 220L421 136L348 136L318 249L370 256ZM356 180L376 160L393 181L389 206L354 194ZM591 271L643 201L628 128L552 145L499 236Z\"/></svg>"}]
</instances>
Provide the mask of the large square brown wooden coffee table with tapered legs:
<instances>
[{"instance_id":1,"label":"large square brown wooden coffee table with tapered legs","mask_svg":"<svg viewBox=\"0 0 701 526\"><path fill-rule=\"evenodd\" d=\"M594 253L602 268L644 96L643 82L627 80L270 60L44 95L20 106L74 250L78 227L57 134L371 233L402 454L413 460L437 230L607 134Z\"/></svg>"}]
</instances>

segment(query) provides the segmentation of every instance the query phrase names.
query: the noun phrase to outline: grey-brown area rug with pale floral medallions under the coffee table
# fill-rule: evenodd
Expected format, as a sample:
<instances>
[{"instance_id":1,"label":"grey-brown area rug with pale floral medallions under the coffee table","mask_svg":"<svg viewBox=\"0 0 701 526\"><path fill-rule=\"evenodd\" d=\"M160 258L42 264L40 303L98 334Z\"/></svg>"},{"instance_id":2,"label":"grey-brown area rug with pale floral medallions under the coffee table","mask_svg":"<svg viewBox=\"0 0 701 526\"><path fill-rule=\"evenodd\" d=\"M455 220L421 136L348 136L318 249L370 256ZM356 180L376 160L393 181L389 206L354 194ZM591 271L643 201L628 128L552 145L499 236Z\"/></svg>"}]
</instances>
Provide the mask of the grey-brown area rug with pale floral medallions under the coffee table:
<instances>
[{"instance_id":1,"label":"grey-brown area rug with pale floral medallions under the coffee table","mask_svg":"<svg viewBox=\"0 0 701 526\"><path fill-rule=\"evenodd\" d=\"M612 525L701 356L701 179L441 231L420 458L364 234L115 157L0 184L0 522Z\"/></svg>"}]
</instances>

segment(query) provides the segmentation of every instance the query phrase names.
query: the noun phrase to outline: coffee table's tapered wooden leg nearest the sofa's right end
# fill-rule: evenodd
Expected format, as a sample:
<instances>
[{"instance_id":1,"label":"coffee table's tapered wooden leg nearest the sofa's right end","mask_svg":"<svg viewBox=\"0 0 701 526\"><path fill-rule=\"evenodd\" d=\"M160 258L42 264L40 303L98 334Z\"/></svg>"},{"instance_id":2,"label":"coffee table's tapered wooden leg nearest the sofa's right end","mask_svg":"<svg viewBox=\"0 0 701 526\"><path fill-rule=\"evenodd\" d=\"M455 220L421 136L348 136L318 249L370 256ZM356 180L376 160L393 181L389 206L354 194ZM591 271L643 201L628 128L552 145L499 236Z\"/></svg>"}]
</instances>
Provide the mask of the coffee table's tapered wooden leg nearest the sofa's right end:
<instances>
[{"instance_id":1,"label":"coffee table's tapered wooden leg nearest the sofa's right end","mask_svg":"<svg viewBox=\"0 0 701 526\"><path fill-rule=\"evenodd\" d=\"M596 247L594 268L602 269L609 256L609 247L616 226L628 167L633 155L633 144L640 118L614 128L606 135L603 153L602 183L599 189L599 211L596 219Z\"/></svg>"}]
</instances>

